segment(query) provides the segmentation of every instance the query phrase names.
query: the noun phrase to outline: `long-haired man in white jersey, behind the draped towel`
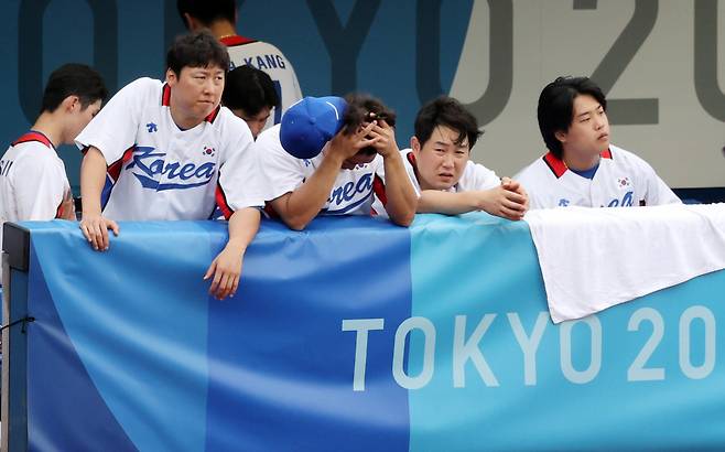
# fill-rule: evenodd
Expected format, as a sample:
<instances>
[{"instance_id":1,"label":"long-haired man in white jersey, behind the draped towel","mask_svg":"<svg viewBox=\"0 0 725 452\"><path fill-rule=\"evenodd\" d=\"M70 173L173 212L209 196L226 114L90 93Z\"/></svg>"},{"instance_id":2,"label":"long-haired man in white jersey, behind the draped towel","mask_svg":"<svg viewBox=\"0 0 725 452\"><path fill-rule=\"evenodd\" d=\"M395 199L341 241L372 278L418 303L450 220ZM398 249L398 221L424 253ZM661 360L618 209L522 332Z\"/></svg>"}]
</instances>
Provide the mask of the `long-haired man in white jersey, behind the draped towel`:
<instances>
[{"instance_id":1,"label":"long-haired man in white jersey, behind the draped towel","mask_svg":"<svg viewBox=\"0 0 725 452\"><path fill-rule=\"evenodd\" d=\"M652 166L609 143L607 101L587 77L559 77L539 97L539 128L549 152L518 181L531 208L618 207L679 203Z\"/></svg>"}]
</instances>

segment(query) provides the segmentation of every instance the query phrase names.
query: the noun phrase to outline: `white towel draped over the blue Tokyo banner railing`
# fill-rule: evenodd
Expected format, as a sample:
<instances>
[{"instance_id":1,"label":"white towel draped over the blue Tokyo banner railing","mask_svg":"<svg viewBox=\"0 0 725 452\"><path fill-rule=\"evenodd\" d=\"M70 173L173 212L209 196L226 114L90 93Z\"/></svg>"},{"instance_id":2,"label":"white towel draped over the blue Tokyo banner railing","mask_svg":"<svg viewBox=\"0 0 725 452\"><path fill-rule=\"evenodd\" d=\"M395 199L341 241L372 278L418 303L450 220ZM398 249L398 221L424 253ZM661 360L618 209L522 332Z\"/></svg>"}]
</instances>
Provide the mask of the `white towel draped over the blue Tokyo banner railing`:
<instances>
[{"instance_id":1,"label":"white towel draped over the blue Tokyo banner railing","mask_svg":"<svg viewBox=\"0 0 725 452\"><path fill-rule=\"evenodd\" d=\"M725 204L530 211L554 323L725 268Z\"/></svg>"}]
</instances>

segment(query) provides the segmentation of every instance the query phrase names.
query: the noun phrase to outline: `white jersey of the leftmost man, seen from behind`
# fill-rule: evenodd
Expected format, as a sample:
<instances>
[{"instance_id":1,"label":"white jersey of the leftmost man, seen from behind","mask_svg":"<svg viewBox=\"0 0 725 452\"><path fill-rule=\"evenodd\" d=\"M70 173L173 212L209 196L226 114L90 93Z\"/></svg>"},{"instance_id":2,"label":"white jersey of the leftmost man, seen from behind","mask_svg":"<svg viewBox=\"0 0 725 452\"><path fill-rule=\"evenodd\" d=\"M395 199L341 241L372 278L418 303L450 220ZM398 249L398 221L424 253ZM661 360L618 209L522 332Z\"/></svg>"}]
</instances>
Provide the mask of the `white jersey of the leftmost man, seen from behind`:
<instances>
[{"instance_id":1,"label":"white jersey of the leftmost man, seen from behind","mask_svg":"<svg viewBox=\"0 0 725 452\"><path fill-rule=\"evenodd\" d=\"M30 131L0 160L0 243L4 222L75 219L65 164L51 140ZM63 212L64 206L68 212Z\"/></svg>"}]
</instances>

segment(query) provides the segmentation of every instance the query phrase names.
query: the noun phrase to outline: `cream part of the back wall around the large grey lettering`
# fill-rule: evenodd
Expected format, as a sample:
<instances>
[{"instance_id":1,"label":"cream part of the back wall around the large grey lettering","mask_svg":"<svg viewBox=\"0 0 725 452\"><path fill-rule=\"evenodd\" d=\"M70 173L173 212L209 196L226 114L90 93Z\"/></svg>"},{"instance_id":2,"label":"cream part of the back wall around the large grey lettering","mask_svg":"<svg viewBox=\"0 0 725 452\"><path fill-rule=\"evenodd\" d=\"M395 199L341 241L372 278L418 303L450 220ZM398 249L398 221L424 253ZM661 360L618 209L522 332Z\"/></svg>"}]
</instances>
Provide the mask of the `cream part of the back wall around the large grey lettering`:
<instances>
[{"instance_id":1,"label":"cream part of the back wall around the large grey lettering","mask_svg":"<svg viewBox=\"0 0 725 452\"><path fill-rule=\"evenodd\" d=\"M573 0L512 3L511 94L500 115L484 126L486 133L473 154L501 175L516 173L544 152L535 118L543 86L559 75L592 75L632 19L636 4L631 0L583 1L596 3L596 9L574 9ZM670 186L725 186L725 122L710 115L695 93L696 2L656 3L651 32L607 99L657 98L659 119L650 125L614 125L612 141L650 162ZM725 96L725 4L714 3L717 83L719 96ZM475 101L486 90L490 12L489 2L475 1L451 89L464 103ZM610 112L609 119L617 118Z\"/></svg>"}]
</instances>

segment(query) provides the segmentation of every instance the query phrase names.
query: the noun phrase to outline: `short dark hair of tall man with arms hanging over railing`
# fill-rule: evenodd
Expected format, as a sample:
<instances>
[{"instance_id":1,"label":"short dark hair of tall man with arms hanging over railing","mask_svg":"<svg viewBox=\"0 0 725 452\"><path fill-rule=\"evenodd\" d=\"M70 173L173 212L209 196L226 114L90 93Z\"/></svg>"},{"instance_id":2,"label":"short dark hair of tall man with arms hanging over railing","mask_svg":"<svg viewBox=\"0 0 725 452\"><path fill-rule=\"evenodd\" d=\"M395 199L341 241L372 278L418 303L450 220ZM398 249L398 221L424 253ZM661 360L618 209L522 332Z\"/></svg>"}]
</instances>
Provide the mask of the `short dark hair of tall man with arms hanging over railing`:
<instances>
[{"instance_id":1,"label":"short dark hair of tall man with arms hanging over railing","mask_svg":"<svg viewBox=\"0 0 725 452\"><path fill-rule=\"evenodd\" d=\"M177 36L166 53L166 67L176 76L184 67L219 66L229 71L227 49L206 30Z\"/></svg>"}]
</instances>

